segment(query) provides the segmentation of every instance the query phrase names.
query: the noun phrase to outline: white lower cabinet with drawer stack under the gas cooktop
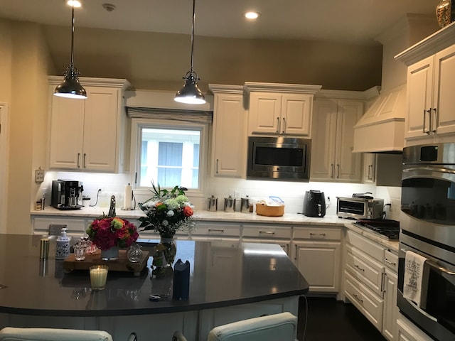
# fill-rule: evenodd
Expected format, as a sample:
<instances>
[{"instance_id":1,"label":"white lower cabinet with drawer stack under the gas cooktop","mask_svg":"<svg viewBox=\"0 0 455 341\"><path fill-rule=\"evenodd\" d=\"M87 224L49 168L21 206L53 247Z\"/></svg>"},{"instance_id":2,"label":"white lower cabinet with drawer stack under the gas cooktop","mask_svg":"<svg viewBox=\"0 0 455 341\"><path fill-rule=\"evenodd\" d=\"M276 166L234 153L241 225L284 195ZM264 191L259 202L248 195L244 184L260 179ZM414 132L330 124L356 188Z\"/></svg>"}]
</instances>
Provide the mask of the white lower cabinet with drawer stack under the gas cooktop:
<instances>
[{"instance_id":1,"label":"white lower cabinet with drawer stack under the gas cooktop","mask_svg":"<svg viewBox=\"0 0 455 341\"><path fill-rule=\"evenodd\" d=\"M387 340L399 340L397 254L350 229L346 231L345 246L345 299L353 303Z\"/></svg>"}]
</instances>

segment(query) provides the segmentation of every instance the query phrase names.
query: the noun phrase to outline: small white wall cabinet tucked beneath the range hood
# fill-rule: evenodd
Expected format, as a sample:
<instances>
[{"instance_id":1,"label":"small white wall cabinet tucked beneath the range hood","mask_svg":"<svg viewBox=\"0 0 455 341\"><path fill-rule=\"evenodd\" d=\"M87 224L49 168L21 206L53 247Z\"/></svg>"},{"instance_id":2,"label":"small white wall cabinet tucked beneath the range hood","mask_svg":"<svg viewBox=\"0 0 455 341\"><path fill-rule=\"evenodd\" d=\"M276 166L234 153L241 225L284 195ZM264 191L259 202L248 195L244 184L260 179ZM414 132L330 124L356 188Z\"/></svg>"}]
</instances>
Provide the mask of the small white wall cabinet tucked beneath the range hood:
<instances>
[{"instance_id":1,"label":"small white wall cabinet tucked beneath the range hood","mask_svg":"<svg viewBox=\"0 0 455 341\"><path fill-rule=\"evenodd\" d=\"M401 186L402 155L363 154L363 183L377 186Z\"/></svg>"}]
</instances>

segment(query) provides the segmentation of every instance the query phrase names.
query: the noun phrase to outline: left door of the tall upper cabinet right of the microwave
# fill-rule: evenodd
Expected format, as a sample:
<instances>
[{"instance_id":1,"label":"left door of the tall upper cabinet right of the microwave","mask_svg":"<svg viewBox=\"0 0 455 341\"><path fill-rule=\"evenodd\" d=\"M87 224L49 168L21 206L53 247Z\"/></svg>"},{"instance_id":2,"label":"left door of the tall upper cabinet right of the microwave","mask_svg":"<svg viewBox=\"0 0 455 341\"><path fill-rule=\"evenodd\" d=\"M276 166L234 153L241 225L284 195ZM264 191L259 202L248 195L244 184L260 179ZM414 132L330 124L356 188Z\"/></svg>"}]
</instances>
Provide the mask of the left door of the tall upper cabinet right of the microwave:
<instances>
[{"instance_id":1,"label":"left door of the tall upper cabinet right of the microwave","mask_svg":"<svg viewBox=\"0 0 455 341\"><path fill-rule=\"evenodd\" d=\"M311 129L311 181L333 179L337 105L337 101L331 99L314 100Z\"/></svg>"}]
</instances>

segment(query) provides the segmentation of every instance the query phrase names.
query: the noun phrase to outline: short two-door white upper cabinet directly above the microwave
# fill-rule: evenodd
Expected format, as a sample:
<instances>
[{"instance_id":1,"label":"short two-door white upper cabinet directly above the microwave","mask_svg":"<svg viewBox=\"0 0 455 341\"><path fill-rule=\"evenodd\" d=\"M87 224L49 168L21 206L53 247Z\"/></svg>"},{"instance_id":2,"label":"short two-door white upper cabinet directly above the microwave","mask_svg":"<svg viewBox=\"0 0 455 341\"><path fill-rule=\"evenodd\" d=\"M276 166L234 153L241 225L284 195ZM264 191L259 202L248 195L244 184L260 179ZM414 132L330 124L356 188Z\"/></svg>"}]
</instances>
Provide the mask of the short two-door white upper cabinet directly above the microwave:
<instances>
[{"instance_id":1,"label":"short two-door white upper cabinet directly above the microwave","mask_svg":"<svg viewBox=\"0 0 455 341\"><path fill-rule=\"evenodd\" d=\"M319 85L245 82L247 133L311 137L311 112Z\"/></svg>"}]
</instances>

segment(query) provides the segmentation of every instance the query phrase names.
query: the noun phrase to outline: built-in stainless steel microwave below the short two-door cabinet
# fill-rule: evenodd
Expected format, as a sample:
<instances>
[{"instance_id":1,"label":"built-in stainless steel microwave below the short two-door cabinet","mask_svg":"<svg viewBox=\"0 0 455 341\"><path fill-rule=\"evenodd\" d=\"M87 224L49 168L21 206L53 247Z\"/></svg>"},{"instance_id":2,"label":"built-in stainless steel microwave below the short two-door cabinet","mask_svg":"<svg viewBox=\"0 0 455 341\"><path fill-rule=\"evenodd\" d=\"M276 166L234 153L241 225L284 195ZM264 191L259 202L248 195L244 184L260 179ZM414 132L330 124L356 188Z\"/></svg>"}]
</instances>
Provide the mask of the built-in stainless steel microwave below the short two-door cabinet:
<instances>
[{"instance_id":1,"label":"built-in stainless steel microwave below the short two-door cabinet","mask_svg":"<svg viewBox=\"0 0 455 341\"><path fill-rule=\"evenodd\" d=\"M308 181L310 156L309 139L250 136L247 178Z\"/></svg>"}]
</instances>

